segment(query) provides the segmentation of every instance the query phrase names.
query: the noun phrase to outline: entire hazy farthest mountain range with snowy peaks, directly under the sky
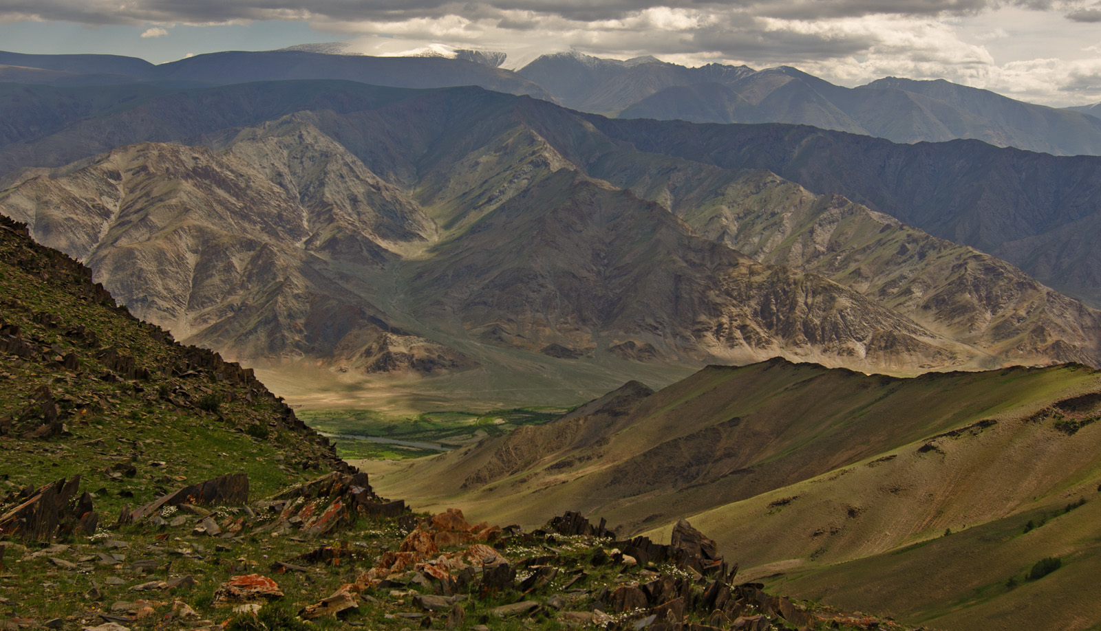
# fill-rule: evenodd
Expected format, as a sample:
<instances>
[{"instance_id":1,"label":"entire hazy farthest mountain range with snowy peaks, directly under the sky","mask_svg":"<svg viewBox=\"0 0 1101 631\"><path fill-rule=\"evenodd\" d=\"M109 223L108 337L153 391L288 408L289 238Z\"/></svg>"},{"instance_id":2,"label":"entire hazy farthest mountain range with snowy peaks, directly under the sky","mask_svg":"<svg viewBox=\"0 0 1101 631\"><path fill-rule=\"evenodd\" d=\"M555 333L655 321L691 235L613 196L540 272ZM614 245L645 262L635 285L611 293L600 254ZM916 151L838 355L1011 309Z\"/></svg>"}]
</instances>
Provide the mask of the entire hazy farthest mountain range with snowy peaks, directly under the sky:
<instances>
[{"instance_id":1,"label":"entire hazy farthest mountain range with snowy peaks, directly under the sky","mask_svg":"<svg viewBox=\"0 0 1101 631\"><path fill-rule=\"evenodd\" d=\"M1088 108L1036 106L945 80L887 77L846 88L787 66L689 68L651 56L618 60L578 52L543 55L513 71L499 67L504 60L500 53L372 57L340 54L342 49L324 44L210 53L155 66L115 55L0 52L0 80L177 88L281 79L347 79L407 88L476 85L624 119L781 122L897 143L978 139L1055 155L1101 154L1101 122Z\"/></svg>"}]
</instances>

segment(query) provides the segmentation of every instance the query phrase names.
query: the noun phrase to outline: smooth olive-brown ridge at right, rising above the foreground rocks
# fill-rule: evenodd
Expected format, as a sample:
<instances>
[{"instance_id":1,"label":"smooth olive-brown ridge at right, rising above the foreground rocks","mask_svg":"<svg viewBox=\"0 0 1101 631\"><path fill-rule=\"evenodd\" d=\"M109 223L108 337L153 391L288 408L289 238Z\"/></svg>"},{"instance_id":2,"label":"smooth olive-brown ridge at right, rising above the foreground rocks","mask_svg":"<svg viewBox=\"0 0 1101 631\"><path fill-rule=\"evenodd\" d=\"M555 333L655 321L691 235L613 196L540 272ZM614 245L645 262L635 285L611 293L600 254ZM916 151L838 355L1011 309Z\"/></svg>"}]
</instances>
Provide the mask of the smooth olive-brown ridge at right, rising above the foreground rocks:
<instances>
[{"instance_id":1,"label":"smooth olive-brown ridge at right, rising above the foreground rocks","mask_svg":"<svg viewBox=\"0 0 1101 631\"><path fill-rule=\"evenodd\" d=\"M375 484L504 520L569 500L652 535L695 516L745 576L803 597L851 607L874 577L871 601L911 623L1088 629L1099 406L1079 365L898 379L773 359L628 384ZM1064 568L1026 580L1045 556Z\"/></svg>"}]
</instances>

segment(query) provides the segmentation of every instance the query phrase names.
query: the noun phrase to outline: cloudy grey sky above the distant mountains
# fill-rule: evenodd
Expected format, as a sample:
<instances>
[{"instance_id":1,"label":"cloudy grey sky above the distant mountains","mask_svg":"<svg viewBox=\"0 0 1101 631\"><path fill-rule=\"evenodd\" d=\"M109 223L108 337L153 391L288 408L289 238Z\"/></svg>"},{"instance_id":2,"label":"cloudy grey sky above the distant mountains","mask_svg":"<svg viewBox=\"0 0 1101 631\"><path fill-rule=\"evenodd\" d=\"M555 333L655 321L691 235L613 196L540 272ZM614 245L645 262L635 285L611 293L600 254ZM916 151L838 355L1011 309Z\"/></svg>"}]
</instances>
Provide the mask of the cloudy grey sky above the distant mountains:
<instances>
[{"instance_id":1,"label":"cloudy grey sky above the distant mountains","mask_svg":"<svg viewBox=\"0 0 1101 631\"><path fill-rule=\"evenodd\" d=\"M0 49L164 63L351 42L509 54L575 48L697 66L792 65L846 86L946 78L1053 106L1101 101L1101 0L0 0Z\"/></svg>"}]
</instances>

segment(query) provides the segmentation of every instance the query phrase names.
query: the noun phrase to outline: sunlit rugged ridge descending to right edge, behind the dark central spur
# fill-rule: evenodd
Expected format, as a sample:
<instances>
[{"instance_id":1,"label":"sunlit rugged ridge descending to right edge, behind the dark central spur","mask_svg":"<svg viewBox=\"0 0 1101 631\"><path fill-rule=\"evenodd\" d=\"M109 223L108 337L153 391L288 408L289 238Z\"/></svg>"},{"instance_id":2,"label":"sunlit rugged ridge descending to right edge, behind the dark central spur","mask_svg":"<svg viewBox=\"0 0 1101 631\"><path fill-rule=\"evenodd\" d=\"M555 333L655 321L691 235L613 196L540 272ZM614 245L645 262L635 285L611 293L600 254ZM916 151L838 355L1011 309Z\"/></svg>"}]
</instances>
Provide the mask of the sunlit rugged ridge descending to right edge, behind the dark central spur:
<instances>
[{"instance_id":1,"label":"sunlit rugged ridge descending to right edge, behind the dark central spur","mask_svg":"<svg viewBox=\"0 0 1101 631\"><path fill-rule=\"evenodd\" d=\"M637 163L617 160L630 164ZM1094 337L1092 310L999 258L767 171L697 166L691 178L654 177L665 169L617 166L609 177L663 200L705 237L764 263L821 274L929 330L995 354L1024 353L1025 364L1032 363L1027 348L1040 340L1054 344L1049 356L1066 351L1059 361L1091 363L1069 347L1060 351L1058 340Z\"/></svg>"}]
</instances>

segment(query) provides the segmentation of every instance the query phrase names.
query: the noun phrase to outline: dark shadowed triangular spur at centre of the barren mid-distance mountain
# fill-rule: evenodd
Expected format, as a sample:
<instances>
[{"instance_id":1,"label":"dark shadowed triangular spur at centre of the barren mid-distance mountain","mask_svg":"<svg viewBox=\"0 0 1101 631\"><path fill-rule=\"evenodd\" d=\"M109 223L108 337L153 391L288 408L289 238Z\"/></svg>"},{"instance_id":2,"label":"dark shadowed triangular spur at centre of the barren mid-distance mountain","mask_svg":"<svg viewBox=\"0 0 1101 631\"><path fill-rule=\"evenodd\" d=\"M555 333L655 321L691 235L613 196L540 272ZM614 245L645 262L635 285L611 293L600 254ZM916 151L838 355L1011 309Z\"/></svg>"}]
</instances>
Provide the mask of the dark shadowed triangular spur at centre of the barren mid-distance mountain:
<instances>
[{"instance_id":1,"label":"dark shadowed triangular spur at centre of the barren mid-distance mountain","mask_svg":"<svg viewBox=\"0 0 1101 631\"><path fill-rule=\"evenodd\" d=\"M565 169L424 267L413 287L425 311L520 346L581 355L630 342L682 361L781 354L895 368L952 361L951 342L852 291L755 264L656 204ZM889 331L896 344L884 343Z\"/></svg>"}]
</instances>

